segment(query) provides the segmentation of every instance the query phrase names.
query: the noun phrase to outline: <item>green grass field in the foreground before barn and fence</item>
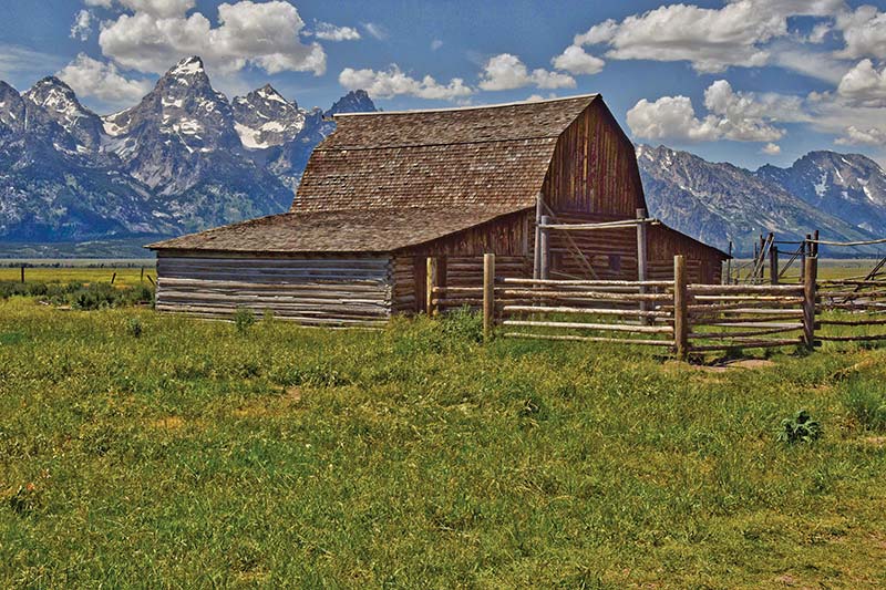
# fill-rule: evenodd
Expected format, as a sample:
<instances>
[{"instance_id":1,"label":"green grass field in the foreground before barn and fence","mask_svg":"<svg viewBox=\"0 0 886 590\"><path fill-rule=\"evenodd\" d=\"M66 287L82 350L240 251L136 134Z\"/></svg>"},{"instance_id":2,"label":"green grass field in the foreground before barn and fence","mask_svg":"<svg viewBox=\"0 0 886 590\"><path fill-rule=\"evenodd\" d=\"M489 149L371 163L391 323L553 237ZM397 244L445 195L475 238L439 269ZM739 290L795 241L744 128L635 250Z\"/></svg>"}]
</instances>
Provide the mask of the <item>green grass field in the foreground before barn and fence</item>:
<instances>
[{"instance_id":1,"label":"green grass field in the foreground before barn and fence","mask_svg":"<svg viewBox=\"0 0 886 590\"><path fill-rule=\"evenodd\" d=\"M0 587L886 584L886 350L477 329L0 301ZM824 434L780 442L801 408Z\"/></svg>"}]
</instances>

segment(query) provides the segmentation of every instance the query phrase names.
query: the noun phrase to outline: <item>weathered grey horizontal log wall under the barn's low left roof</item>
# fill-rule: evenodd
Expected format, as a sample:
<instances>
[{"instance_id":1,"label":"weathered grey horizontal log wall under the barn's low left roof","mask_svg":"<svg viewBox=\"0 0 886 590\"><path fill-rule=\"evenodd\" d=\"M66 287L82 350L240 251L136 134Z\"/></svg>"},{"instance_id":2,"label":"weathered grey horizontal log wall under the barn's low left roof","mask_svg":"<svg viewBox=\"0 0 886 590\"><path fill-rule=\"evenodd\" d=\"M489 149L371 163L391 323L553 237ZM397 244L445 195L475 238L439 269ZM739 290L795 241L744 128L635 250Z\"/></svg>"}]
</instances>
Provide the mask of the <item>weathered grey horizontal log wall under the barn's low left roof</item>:
<instances>
[{"instance_id":1,"label":"weathered grey horizontal log wall under the barn's low left roof","mask_svg":"<svg viewBox=\"0 0 886 590\"><path fill-rule=\"evenodd\" d=\"M389 256L159 252L157 310L208 318L238 307L303 324L360 324L391 314Z\"/></svg>"}]
</instances>

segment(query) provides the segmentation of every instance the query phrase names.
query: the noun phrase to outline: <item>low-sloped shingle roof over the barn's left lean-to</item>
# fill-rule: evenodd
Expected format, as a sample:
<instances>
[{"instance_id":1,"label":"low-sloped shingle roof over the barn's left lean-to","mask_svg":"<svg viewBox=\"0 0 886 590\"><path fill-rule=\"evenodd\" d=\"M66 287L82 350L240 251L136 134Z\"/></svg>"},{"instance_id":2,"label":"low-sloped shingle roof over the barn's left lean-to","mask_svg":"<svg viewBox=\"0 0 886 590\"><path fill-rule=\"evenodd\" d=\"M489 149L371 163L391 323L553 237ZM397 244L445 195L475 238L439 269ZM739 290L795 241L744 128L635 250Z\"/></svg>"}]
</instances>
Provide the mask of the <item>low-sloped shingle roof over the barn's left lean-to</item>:
<instances>
[{"instance_id":1,"label":"low-sloped shingle roof over the barn's left lean-to","mask_svg":"<svg viewBox=\"0 0 886 590\"><path fill-rule=\"evenodd\" d=\"M270 215L146 246L233 252L389 252L491 221L511 209L350 209Z\"/></svg>"}]
</instances>

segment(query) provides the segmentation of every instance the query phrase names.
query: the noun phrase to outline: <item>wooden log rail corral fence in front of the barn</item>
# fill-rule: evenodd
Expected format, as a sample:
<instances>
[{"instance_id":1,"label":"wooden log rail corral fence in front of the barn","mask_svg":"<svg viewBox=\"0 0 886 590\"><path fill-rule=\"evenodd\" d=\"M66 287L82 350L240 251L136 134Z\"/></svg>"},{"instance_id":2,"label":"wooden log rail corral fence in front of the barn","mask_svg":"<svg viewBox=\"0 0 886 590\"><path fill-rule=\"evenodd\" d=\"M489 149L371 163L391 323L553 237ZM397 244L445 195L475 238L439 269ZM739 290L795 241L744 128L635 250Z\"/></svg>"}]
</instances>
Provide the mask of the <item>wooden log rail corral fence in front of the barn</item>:
<instances>
[{"instance_id":1,"label":"wooden log rail corral fence in front of the barn","mask_svg":"<svg viewBox=\"0 0 886 590\"><path fill-rule=\"evenodd\" d=\"M429 269L436 268L429 259ZM817 257L804 259L801 284L693 284L686 259L673 280L605 281L496 275L484 256L483 287L447 287L429 272L426 311L483 311L484 334L504 338L660 346L691 353L822 341L886 340L886 280L817 280ZM859 331L859 329L863 329Z\"/></svg>"}]
</instances>

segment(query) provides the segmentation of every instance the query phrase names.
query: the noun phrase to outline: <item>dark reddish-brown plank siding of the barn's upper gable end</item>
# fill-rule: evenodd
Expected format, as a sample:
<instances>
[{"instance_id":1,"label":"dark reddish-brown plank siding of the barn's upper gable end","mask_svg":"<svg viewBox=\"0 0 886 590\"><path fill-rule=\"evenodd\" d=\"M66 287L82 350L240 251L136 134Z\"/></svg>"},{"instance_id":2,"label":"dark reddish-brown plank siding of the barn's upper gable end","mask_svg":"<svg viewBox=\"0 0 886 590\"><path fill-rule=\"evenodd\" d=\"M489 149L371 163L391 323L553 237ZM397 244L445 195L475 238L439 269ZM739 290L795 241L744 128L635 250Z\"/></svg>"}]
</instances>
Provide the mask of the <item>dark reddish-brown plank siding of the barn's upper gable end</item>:
<instances>
[{"instance_id":1,"label":"dark reddish-brown plank siding of the barn's upper gable end","mask_svg":"<svg viewBox=\"0 0 886 590\"><path fill-rule=\"evenodd\" d=\"M556 213L625 218L646 207L633 146L602 101L557 139L542 190Z\"/></svg>"}]
</instances>

